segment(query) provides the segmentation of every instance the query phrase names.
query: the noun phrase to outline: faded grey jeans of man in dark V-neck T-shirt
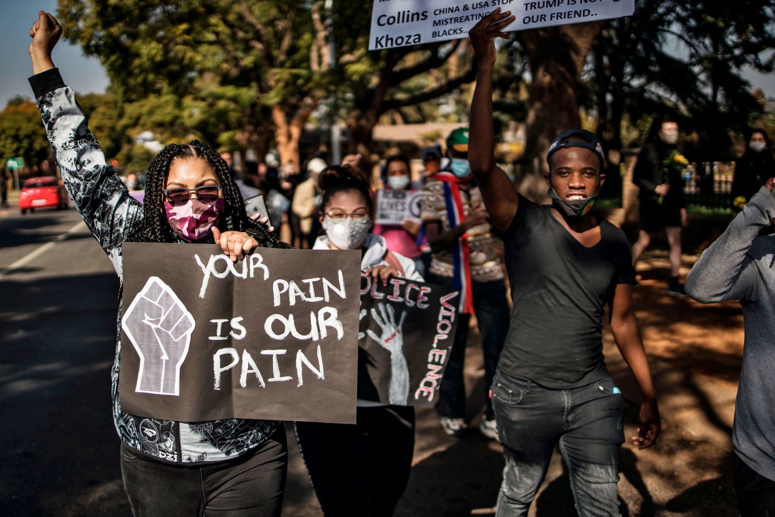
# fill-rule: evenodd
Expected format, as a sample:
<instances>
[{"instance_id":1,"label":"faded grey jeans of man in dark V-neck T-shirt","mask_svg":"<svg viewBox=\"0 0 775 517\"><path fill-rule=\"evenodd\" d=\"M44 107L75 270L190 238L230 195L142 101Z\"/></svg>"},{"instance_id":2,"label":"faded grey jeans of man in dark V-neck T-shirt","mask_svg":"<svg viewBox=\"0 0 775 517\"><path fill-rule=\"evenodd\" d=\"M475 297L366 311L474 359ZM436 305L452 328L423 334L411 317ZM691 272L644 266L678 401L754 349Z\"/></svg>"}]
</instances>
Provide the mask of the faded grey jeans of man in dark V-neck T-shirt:
<instances>
[{"instance_id":1,"label":"faded grey jeans of man in dark V-neck T-shirt","mask_svg":"<svg viewBox=\"0 0 775 517\"><path fill-rule=\"evenodd\" d=\"M506 466L496 517L528 515L557 443L580 517L618 516L622 395L610 377L549 389L498 371L492 402Z\"/></svg>"}]
</instances>

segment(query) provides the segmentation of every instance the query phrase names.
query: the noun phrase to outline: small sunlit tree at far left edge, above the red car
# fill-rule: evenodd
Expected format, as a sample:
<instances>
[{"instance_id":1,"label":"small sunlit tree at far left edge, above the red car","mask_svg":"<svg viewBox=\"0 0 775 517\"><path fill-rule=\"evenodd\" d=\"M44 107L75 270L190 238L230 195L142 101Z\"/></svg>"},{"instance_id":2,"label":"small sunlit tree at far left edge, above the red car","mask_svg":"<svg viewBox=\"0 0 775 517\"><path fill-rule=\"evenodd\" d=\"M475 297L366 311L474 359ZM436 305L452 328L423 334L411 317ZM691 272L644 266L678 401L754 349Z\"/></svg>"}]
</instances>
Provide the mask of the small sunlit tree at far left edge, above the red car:
<instances>
[{"instance_id":1,"label":"small sunlit tree at far left edge, above the red car","mask_svg":"<svg viewBox=\"0 0 775 517\"><path fill-rule=\"evenodd\" d=\"M9 158L22 157L26 164L46 160L49 144L34 102L14 98L0 112L0 167Z\"/></svg>"}]
</instances>

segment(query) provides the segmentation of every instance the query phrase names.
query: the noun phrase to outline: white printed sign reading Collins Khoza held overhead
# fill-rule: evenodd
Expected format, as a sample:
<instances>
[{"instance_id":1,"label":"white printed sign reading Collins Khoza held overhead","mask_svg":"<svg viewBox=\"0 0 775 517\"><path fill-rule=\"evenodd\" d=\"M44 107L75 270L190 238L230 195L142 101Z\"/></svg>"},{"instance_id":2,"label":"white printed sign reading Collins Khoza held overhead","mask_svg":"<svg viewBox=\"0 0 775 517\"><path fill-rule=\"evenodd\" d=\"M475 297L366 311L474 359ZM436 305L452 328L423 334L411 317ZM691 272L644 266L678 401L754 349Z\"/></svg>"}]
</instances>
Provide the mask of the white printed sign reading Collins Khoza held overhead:
<instances>
[{"instance_id":1,"label":"white printed sign reading Collins Khoza held overhead","mask_svg":"<svg viewBox=\"0 0 775 517\"><path fill-rule=\"evenodd\" d=\"M498 7L516 16L513 32L632 16L635 0L374 0L369 50L466 38Z\"/></svg>"}]
</instances>

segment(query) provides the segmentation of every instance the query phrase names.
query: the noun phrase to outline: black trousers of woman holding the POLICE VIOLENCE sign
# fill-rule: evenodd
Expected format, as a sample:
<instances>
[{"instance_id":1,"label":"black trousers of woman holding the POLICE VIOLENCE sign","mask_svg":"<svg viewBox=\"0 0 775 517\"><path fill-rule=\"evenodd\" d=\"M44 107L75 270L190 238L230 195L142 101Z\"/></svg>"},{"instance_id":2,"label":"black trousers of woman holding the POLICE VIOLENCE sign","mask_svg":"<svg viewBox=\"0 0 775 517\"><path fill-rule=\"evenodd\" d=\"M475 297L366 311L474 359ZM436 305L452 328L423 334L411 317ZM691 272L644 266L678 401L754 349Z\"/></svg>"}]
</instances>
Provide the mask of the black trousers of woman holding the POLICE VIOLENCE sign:
<instances>
[{"instance_id":1,"label":"black trousers of woman holding the POLICE VIOLENCE sign","mask_svg":"<svg viewBox=\"0 0 775 517\"><path fill-rule=\"evenodd\" d=\"M294 422L301 456L326 517L389 517L412 470L415 408L358 408L357 422Z\"/></svg>"}]
</instances>

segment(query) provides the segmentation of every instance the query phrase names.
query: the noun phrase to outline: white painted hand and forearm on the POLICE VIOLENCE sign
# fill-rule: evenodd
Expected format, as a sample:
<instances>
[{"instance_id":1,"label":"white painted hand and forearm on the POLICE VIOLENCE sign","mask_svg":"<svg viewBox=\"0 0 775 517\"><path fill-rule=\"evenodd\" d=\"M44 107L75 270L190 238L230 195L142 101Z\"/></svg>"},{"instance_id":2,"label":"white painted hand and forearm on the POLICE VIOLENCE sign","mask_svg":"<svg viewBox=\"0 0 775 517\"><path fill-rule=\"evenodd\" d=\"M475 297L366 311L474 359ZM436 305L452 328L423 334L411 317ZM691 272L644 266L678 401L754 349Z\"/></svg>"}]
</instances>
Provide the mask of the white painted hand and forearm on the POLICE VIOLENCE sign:
<instances>
[{"instance_id":1,"label":"white painted hand and forearm on the POLICE VIOLENCE sign","mask_svg":"<svg viewBox=\"0 0 775 517\"><path fill-rule=\"evenodd\" d=\"M377 336L377 333L370 329L367 333L371 339L390 352L391 374L387 395L390 403L406 405L409 395L409 367L404 357L404 335L401 330L404 327L406 312L401 312L401 319L396 324L395 311L391 305L379 303L377 307L380 309L381 316L377 315L377 311L372 308L371 317L382 329L382 335Z\"/></svg>"}]
</instances>

